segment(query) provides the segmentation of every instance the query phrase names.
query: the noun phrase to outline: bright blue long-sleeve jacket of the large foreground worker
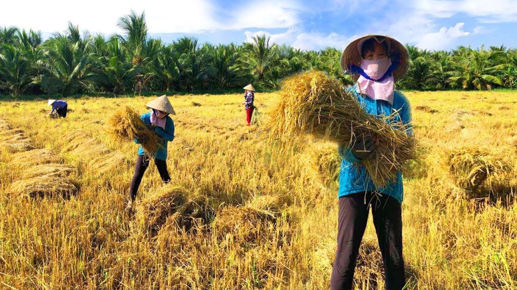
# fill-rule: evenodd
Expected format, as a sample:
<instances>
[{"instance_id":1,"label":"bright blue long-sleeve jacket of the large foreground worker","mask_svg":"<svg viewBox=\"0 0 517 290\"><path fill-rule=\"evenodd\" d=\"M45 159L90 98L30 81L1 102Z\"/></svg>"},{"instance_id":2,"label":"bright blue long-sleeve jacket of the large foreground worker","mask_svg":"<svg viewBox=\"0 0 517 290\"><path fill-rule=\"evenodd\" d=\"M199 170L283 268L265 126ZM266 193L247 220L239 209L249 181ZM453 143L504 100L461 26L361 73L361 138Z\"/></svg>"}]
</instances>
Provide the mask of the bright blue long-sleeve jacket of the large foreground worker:
<instances>
[{"instance_id":1,"label":"bright blue long-sleeve jacket of the large foreground worker","mask_svg":"<svg viewBox=\"0 0 517 290\"><path fill-rule=\"evenodd\" d=\"M407 133L413 134L413 128L410 124L411 108L409 100L404 94L399 91L395 91L393 105L391 105L384 100L373 100L368 96L361 96L356 91L355 87L352 87L350 91L355 94L361 107L370 115L388 116L393 113L394 110L398 110L398 115L394 117L393 121L402 121L402 123L407 124ZM339 197L362 191L377 190L378 192L381 192L381 194L391 196L402 203L402 200L404 199L404 188L402 186L401 172L397 172L397 179L386 187L375 188L375 185L371 181L370 174L366 171L364 166L357 163L359 159L354 156L350 148L339 146L339 153L342 157L339 174Z\"/></svg>"}]
</instances>

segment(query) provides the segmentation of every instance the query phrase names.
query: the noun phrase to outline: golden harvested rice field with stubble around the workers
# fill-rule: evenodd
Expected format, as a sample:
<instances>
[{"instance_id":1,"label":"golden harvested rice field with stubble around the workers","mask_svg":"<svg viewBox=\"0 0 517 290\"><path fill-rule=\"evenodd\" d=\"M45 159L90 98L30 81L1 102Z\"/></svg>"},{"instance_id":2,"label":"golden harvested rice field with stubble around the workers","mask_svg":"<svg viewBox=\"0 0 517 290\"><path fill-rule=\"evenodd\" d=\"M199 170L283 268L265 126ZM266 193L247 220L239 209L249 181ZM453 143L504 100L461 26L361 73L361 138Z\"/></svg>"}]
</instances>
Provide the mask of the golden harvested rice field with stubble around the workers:
<instances>
[{"instance_id":1,"label":"golden harvested rice field with stubble around the workers","mask_svg":"<svg viewBox=\"0 0 517 290\"><path fill-rule=\"evenodd\" d=\"M409 289L517 288L517 92L406 92L417 159L404 176ZM169 96L164 185L110 117L156 96L0 102L0 289L327 289L337 246L337 145L268 140L279 93ZM16 106L15 106L16 104ZM371 221L356 289L383 289Z\"/></svg>"}]
</instances>

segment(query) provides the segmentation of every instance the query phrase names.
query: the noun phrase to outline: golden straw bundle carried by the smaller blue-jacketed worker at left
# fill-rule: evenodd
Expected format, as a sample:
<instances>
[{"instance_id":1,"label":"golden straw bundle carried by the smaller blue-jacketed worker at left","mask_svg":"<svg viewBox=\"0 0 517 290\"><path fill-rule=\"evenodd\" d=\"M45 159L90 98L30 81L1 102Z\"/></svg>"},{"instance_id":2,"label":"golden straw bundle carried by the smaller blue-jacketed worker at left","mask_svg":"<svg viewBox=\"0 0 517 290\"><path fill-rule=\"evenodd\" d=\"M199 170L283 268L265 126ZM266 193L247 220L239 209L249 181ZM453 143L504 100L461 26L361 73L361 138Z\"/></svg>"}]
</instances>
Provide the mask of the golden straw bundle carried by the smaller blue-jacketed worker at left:
<instances>
[{"instance_id":1,"label":"golden straw bundle carried by the smaller blue-jacketed worker at left","mask_svg":"<svg viewBox=\"0 0 517 290\"><path fill-rule=\"evenodd\" d=\"M149 155L154 155L161 147L162 138L140 119L136 111L128 106L121 107L109 120L108 131L116 138L132 142L138 139Z\"/></svg>"}]
</instances>

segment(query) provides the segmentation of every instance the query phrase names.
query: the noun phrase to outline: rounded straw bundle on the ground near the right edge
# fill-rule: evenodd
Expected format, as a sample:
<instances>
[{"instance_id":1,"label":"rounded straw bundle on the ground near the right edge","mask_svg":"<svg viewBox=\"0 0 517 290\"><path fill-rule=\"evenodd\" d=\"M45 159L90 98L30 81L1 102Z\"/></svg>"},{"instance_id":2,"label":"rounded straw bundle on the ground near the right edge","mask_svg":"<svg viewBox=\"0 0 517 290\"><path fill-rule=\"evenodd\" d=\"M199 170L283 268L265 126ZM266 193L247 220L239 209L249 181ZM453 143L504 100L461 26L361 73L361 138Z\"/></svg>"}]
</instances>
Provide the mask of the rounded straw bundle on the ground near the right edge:
<instances>
[{"instance_id":1,"label":"rounded straw bundle on the ground near the right edge","mask_svg":"<svg viewBox=\"0 0 517 290\"><path fill-rule=\"evenodd\" d=\"M498 175L512 171L512 166L498 153L479 147L461 147L449 150L449 170L452 179L461 188L475 191L478 187L492 191Z\"/></svg>"}]
</instances>

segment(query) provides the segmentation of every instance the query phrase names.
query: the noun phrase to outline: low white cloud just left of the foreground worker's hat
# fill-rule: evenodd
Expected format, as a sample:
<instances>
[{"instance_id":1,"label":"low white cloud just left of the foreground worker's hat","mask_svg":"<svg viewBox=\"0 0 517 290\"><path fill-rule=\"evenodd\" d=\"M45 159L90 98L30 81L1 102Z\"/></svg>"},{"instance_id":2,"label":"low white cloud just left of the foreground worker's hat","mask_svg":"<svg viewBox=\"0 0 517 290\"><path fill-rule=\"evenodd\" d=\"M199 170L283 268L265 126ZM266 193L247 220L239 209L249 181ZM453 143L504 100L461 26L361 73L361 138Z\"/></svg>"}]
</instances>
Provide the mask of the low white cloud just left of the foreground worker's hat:
<instances>
[{"instance_id":1,"label":"low white cloud just left of the foreground worker's hat","mask_svg":"<svg viewBox=\"0 0 517 290\"><path fill-rule=\"evenodd\" d=\"M326 47L343 50L348 43L356 38L357 36L348 37L337 33L300 33L292 46L301 50L321 50Z\"/></svg>"}]
</instances>

